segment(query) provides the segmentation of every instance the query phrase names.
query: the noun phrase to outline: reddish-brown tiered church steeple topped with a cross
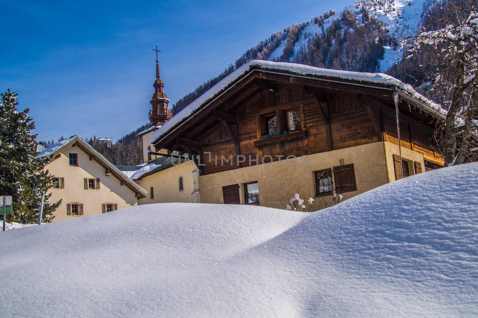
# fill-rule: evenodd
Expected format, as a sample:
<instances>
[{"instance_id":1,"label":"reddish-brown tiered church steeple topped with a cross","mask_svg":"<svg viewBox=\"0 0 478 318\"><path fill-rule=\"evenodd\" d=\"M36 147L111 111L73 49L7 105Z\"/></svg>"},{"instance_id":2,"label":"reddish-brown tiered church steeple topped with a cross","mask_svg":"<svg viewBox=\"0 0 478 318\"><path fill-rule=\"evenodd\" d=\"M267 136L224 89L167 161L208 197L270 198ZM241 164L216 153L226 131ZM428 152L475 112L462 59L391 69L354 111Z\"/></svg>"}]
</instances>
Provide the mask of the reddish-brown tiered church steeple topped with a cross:
<instances>
[{"instance_id":1,"label":"reddish-brown tiered church steeple topped with a cross","mask_svg":"<svg viewBox=\"0 0 478 318\"><path fill-rule=\"evenodd\" d=\"M158 61L158 43L156 43L156 49L153 49L156 52L156 80L154 81L154 94L151 99L152 110L149 112L150 121L155 125L163 125L169 119L173 117L173 111L168 109L169 99L166 94L163 92L164 83L159 76L159 61Z\"/></svg>"}]
</instances>

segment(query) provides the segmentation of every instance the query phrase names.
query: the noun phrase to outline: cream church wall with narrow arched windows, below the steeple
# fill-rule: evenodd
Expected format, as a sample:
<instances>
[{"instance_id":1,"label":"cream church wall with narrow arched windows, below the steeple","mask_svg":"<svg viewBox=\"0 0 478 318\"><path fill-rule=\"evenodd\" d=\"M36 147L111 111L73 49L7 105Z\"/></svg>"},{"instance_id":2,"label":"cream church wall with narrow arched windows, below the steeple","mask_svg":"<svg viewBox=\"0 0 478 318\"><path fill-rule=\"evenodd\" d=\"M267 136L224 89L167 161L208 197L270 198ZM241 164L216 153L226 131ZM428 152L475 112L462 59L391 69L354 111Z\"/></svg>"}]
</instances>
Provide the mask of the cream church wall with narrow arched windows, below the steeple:
<instances>
[{"instance_id":1,"label":"cream church wall with narrow arched windows, below the steeple","mask_svg":"<svg viewBox=\"0 0 478 318\"><path fill-rule=\"evenodd\" d=\"M141 180L134 180L141 188L148 192L148 196L138 200L138 204L199 202L199 193L191 194L197 190L197 177L196 184L194 180L198 172L193 172L195 169L196 165L192 161L186 161L177 166L142 177ZM182 191L179 191L180 176L183 177L184 190ZM151 187L154 192L153 199L151 199Z\"/></svg>"}]
</instances>

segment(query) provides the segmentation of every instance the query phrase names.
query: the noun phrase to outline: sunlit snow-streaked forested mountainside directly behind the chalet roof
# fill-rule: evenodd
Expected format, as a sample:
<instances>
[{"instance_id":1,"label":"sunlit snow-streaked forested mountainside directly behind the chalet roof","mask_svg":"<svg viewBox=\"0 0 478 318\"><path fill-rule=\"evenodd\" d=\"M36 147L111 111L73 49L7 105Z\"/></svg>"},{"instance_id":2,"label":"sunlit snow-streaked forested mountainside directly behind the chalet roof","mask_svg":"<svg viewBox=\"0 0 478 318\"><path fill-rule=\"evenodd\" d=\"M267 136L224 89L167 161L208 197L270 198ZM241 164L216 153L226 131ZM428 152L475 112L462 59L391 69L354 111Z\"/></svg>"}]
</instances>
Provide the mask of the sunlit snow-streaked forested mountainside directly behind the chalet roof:
<instances>
[{"instance_id":1,"label":"sunlit snow-streaked forested mountainside directly behind the chalet roof","mask_svg":"<svg viewBox=\"0 0 478 318\"><path fill-rule=\"evenodd\" d=\"M364 0L293 24L247 50L217 77L173 105L173 113L252 60L294 62L330 69L386 72L400 57L400 35L415 30L425 2ZM429 4L428 4L429 5ZM398 30L397 30L398 29Z\"/></svg>"}]
</instances>

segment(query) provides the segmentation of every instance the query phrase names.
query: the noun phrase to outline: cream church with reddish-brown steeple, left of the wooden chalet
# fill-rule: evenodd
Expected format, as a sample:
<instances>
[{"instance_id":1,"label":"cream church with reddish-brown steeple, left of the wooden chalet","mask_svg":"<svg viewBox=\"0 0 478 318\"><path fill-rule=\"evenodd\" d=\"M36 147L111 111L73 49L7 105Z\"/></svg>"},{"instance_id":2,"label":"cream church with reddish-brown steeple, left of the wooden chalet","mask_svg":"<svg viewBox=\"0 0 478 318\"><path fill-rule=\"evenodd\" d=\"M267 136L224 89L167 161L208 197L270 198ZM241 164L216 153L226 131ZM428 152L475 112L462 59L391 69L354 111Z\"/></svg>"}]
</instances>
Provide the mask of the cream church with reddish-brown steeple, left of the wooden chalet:
<instances>
[{"instance_id":1,"label":"cream church with reddish-brown steeple, left of the wooden chalet","mask_svg":"<svg viewBox=\"0 0 478 318\"><path fill-rule=\"evenodd\" d=\"M166 149L158 149L158 153L162 155L152 154L154 146L150 143L151 135L173 117L173 112L168 109L169 99L163 91L164 83L160 79L158 60L153 87L150 124L138 133L141 137L143 164L118 166L118 169L148 191L147 197L138 199L140 205L162 202L199 203L199 171L194 162L186 160L184 156L173 158Z\"/></svg>"}]
</instances>

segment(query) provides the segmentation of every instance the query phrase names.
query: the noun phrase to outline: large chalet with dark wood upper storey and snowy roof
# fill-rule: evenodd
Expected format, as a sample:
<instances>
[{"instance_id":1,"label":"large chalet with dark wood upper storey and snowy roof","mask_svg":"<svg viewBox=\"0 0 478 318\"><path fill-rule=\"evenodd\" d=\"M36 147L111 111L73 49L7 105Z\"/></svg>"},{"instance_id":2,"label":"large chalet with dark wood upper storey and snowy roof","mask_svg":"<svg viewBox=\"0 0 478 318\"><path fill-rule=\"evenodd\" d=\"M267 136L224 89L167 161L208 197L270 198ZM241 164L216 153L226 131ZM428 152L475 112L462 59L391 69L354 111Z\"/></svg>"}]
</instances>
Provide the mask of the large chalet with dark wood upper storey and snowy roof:
<instances>
[{"instance_id":1,"label":"large chalet with dark wood upper storey and snowy roof","mask_svg":"<svg viewBox=\"0 0 478 318\"><path fill-rule=\"evenodd\" d=\"M195 161L201 202L284 208L288 178L347 199L443 166L432 136L445 114L386 74L252 61L148 130L148 145Z\"/></svg>"}]
</instances>

